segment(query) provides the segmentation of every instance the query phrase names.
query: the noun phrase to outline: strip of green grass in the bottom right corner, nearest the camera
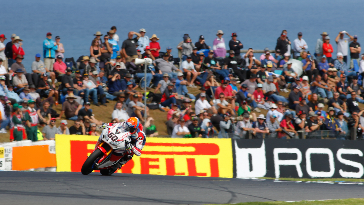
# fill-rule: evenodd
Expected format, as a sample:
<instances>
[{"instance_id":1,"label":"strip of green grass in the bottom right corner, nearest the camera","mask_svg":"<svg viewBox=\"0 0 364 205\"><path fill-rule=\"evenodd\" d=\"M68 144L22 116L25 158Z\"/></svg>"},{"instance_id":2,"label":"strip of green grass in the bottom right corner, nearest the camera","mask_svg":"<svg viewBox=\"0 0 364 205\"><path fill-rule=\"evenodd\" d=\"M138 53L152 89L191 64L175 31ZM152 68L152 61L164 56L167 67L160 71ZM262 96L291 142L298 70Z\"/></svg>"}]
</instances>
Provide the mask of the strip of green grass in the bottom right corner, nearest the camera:
<instances>
[{"instance_id":1,"label":"strip of green grass in the bottom right corner, nearest the camera","mask_svg":"<svg viewBox=\"0 0 364 205\"><path fill-rule=\"evenodd\" d=\"M245 203L237 203L234 205L329 205L329 204L364 205L364 198L349 198L349 199L326 200L326 201L297 201L297 202L285 202L285 201L245 202ZM209 204L209 205L214 205L214 204Z\"/></svg>"}]
</instances>

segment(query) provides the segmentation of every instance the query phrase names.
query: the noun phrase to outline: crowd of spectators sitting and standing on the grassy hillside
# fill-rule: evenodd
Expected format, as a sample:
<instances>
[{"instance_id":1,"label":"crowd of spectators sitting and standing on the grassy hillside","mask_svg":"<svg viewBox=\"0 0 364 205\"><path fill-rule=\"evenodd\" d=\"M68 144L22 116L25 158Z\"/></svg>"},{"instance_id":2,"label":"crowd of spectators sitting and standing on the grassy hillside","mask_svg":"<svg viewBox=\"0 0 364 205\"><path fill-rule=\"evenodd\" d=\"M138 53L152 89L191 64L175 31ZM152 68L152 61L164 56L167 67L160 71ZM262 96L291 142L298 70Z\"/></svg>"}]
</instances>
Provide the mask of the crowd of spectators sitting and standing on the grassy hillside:
<instances>
[{"instance_id":1,"label":"crowd of spectators sitting and standing on the grassy hillside","mask_svg":"<svg viewBox=\"0 0 364 205\"><path fill-rule=\"evenodd\" d=\"M90 53L76 60L65 58L67 45L48 32L43 52L30 54L35 58L29 65L32 73L22 63L23 40L12 34L5 45L1 34L0 133L9 132L11 141L97 136L97 125L104 122L99 120L102 113L92 112L92 103L112 109L112 123L138 117L149 137L158 136L150 109L167 112L172 138L288 139L321 137L325 131L348 139L352 127L357 138L363 136L364 54L358 37L347 31L335 37L337 46L323 32L310 54L302 32L291 43L283 30L275 49L265 48L260 57L252 48L241 53L236 33L225 43L221 30L212 46L203 35L193 43L184 34L176 47L178 57L144 28L128 32L122 43L116 32L112 26L106 35L90 35ZM137 58L152 59L146 75ZM145 88L147 99L141 91Z\"/></svg>"}]
</instances>

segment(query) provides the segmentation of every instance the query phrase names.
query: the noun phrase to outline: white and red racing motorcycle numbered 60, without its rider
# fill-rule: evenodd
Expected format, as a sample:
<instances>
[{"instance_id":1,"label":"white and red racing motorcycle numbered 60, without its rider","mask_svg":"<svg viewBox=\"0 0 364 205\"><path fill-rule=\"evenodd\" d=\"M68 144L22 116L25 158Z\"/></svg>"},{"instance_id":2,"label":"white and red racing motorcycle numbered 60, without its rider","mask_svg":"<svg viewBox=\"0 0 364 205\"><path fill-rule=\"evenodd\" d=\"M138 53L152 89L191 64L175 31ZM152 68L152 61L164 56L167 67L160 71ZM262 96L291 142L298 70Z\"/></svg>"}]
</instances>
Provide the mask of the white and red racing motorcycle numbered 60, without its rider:
<instances>
[{"instance_id":1,"label":"white and red racing motorcycle numbered 60, without its rider","mask_svg":"<svg viewBox=\"0 0 364 205\"><path fill-rule=\"evenodd\" d=\"M93 170L100 170L102 175L111 175L122 166L118 162L127 152L130 152L127 149L127 144L131 143L130 132L118 129L117 124L105 124L99 128L104 128L104 130L95 145L95 150L82 165L81 173L83 175L90 174ZM119 157L113 159L113 152Z\"/></svg>"}]
</instances>

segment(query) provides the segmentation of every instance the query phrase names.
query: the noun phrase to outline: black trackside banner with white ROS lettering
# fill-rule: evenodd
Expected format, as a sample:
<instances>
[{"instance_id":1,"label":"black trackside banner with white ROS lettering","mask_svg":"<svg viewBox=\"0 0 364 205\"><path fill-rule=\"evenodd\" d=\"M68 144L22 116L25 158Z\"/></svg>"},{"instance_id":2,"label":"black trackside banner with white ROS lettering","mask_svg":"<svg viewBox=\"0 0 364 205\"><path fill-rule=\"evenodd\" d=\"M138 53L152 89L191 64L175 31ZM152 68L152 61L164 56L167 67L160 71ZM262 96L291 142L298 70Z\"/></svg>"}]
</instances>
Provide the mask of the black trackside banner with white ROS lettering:
<instances>
[{"instance_id":1,"label":"black trackside banner with white ROS lettering","mask_svg":"<svg viewBox=\"0 0 364 205\"><path fill-rule=\"evenodd\" d=\"M364 141L239 139L236 177L363 178Z\"/></svg>"}]
</instances>

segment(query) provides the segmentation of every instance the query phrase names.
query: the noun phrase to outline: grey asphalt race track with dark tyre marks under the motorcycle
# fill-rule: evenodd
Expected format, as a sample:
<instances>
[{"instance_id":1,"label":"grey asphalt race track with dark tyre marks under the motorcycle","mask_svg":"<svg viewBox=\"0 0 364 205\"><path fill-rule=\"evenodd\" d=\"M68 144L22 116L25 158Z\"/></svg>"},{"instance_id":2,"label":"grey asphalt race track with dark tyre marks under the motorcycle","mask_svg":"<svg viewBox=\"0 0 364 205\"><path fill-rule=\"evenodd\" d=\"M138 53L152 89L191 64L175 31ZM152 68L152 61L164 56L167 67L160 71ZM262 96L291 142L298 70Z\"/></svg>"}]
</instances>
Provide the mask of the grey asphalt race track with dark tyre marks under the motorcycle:
<instances>
[{"instance_id":1,"label":"grey asphalt race track with dark tyre marks under the motorcycle","mask_svg":"<svg viewBox=\"0 0 364 205\"><path fill-rule=\"evenodd\" d=\"M364 185L138 174L0 171L0 204L210 204L363 198Z\"/></svg>"}]
</instances>

